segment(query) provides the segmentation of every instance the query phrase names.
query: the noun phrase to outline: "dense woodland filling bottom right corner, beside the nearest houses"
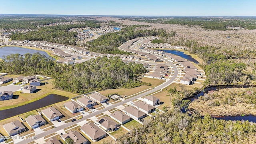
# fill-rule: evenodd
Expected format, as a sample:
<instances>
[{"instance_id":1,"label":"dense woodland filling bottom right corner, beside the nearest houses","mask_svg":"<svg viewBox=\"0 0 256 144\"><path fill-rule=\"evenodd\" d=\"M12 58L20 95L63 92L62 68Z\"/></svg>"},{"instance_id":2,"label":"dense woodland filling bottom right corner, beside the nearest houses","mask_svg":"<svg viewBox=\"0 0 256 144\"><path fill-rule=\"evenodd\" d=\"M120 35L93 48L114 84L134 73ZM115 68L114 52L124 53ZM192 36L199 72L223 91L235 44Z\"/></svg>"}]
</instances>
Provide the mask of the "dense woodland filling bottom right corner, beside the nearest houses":
<instances>
[{"instance_id":1,"label":"dense woodland filling bottom right corner, beside the nearest houses","mask_svg":"<svg viewBox=\"0 0 256 144\"><path fill-rule=\"evenodd\" d=\"M144 120L116 144L253 144L256 124L216 120L209 115L166 112Z\"/></svg>"}]
</instances>

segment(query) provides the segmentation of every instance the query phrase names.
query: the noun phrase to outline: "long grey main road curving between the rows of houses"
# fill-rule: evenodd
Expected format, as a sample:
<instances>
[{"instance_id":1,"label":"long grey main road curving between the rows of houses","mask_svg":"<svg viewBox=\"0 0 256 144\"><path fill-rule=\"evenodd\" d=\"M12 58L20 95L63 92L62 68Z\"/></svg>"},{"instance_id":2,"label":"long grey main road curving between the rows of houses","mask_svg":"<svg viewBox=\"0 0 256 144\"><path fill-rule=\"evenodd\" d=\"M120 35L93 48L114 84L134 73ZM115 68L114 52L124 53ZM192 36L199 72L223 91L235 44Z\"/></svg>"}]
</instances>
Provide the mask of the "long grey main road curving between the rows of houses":
<instances>
[{"instance_id":1,"label":"long grey main road curving between the rows of houses","mask_svg":"<svg viewBox=\"0 0 256 144\"><path fill-rule=\"evenodd\" d=\"M163 59L163 60L166 60L166 59L164 59L164 58L162 58L162 59ZM137 98L140 98L140 97L142 97L142 96L145 96L145 95L147 95L147 94L151 94L151 93L153 93L153 92L156 92L156 91L158 91L158 90L161 90L162 88L165 88L166 86L169 86L170 84L172 84L172 82L173 82L173 81L175 80L175 78L178 76L178 69L176 68L176 66L175 66L174 64L172 64L172 62L168 62L168 60L166 60L166 62L167 62L168 65L170 65L170 66L172 66L172 67L174 68L174 75L172 76L172 78L171 78L170 80L164 82L163 84L161 84L161 85L155 87L155 88L152 89L152 90L148 90L147 92L144 92L144 93L142 93L142 94L138 94L137 96L133 96L132 98L128 98L127 100L124 100L124 101L122 101L122 102L118 102L118 103L116 103L116 104L113 104L113 105L108 106L108 107L106 107L106 108L103 108L103 109L101 109L101 110L92 112L92 114L88 114L88 115L84 116L84 117L83 117L82 119L80 119L80 120L76 120L76 121L74 121L74 122L68 122L68 123L63 124L63 125L61 125L61 126L58 126L58 127L56 127L56 128L47 130L46 132L43 132L43 133L41 133L41 134L37 134L37 135L35 135L35 137L37 137L36 139L43 138L44 136L47 136L47 135L49 135L49 134L52 134L52 133L54 133L54 132L57 132L57 131L62 130L62 129L64 129L64 128L67 128L67 127L69 127L69 126L72 126L72 125L74 125L74 124L77 124L78 122L82 122L82 121L84 121L84 120L86 120L86 119L88 119L88 118L91 118L91 117L93 117L93 116L96 116L96 115L98 115L98 114L101 114L101 113L103 113L103 112L105 112L105 111L107 111L107 110L111 110L112 108L116 108L117 106L120 106L120 105L122 105L122 104L125 104L125 103L127 103L127 102L130 102L130 101L135 100L135 99L137 99ZM84 123L84 124L86 124L86 123ZM36 139L34 139L34 140L36 140ZM21 142L18 142L18 143L16 143L16 144L28 144L28 143L30 143L30 142L33 142L34 140L32 140L31 138L30 138L30 139L25 139L25 140L22 140Z\"/></svg>"}]
</instances>

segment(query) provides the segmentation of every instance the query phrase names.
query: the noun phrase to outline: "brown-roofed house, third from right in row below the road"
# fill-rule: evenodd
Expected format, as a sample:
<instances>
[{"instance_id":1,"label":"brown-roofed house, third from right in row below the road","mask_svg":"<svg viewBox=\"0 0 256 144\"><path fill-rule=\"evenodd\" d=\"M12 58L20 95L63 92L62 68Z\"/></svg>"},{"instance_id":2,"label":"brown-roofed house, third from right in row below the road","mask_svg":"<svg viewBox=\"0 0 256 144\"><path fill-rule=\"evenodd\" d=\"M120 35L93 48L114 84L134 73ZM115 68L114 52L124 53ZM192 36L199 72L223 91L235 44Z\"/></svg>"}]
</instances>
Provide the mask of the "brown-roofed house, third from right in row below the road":
<instances>
[{"instance_id":1,"label":"brown-roofed house, third from right in row below the road","mask_svg":"<svg viewBox=\"0 0 256 144\"><path fill-rule=\"evenodd\" d=\"M133 106L125 107L123 109L123 112L136 120L140 120L147 116L146 113L142 112L141 110L138 110L137 108L135 108Z\"/></svg>"}]
</instances>

